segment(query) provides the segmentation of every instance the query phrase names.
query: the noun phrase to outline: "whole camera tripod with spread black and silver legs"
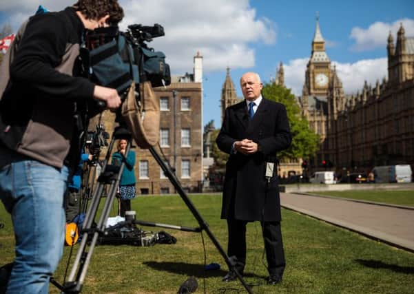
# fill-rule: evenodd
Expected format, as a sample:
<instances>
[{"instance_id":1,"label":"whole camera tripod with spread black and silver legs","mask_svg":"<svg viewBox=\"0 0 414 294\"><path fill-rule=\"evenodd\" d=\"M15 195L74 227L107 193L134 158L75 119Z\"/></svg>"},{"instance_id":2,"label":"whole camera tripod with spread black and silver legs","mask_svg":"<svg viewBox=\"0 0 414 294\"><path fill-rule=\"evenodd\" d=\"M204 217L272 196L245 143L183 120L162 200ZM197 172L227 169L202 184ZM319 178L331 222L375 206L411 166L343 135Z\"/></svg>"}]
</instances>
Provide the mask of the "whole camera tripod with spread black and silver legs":
<instances>
[{"instance_id":1,"label":"whole camera tripod with spread black and silver legs","mask_svg":"<svg viewBox=\"0 0 414 294\"><path fill-rule=\"evenodd\" d=\"M125 167L125 162L122 162L121 166L114 166L114 165L108 164L110 160L110 154L111 154L112 148L114 147L114 141L116 139L127 140L125 156L127 156L127 154L130 151L131 142L132 142L132 136L130 132L127 129L125 129L125 127L116 127L114 129L114 134L112 135L112 139L108 147L105 160L103 160L102 172L98 178L96 188L93 191L90 207L88 207L85 220L83 221L83 226L81 229L81 233L83 233L83 237L81 240L81 244L79 245L79 249L76 254L74 264L72 265L72 270L68 277L68 281L65 282L63 286L61 286L56 281L51 280L52 284L54 284L57 288L59 288L64 293L80 293L81 292L81 288L83 286L83 282L85 280L85 276L87 272L87 267L90 264L92 253L94 252L94 247L96 246L96 242L98 242L99 235L103 234L103 231L105 230L105 223L107 221L107 218L109 217L112 203L116 196L117 187L119 185L119 182L121 180L121 175ZM159 227L168 227L171 229L181 229L183 231L201 231L201 230L206 231L211 242L213 242L218 252L225 259L225 262L227 266L229 266L229 269L233 270L236 273L238 279L240 280L242 285L245 287L246 291L248 293L253 293L251 291L251 288L249 288L249 286L246 284L245 280L243 280L240 273L238 273L236 269L236 261L231 260L227 256L225 251L222 249L222 246L220 246L220 243L218 242L214 234L211 233L207 222L203 220L202 216L197 211L196 207L194 207L194 204L192 203L192 201L189 200L187 194L183 190L183 187L181 187L180 182L178 182L178 179L176 178L176 176L167 167L167 165L165 165L165 162L161 159L161 157L156 152L154 147L149 147L149 151L151 152L152 156L154 156L154 159L156 160L156 162L158 162L158 165L160 165L161 169L163 169L165 176L167 176L167 178L169 178L172 185L174 185L176 191L178 192L178 194L183 199L183 201L185 202L189 210L194 215L194 218L196 218L196 220L198 221L200 228L191 229L191 228L178 227L178 226L172 226L172 225L167 225L167 224L153 224L149 222L138 222L138 221L136 223L141 223L141 224L150 225L150 226L152 225L152 226L159 226ZM96 226L94 226L94 219L96 218L96 213L99 208L99 202L101 201L101 194L103 192L104 185L107 185L107 184L110 185L110 189L109 189L109 192L107 193L107 197L105 198L105 203L103 205L103 210L99 218L99 221L96 223ZM87 250L88 243L89 243L89 250Z\"/></svg>"}]
</instances>

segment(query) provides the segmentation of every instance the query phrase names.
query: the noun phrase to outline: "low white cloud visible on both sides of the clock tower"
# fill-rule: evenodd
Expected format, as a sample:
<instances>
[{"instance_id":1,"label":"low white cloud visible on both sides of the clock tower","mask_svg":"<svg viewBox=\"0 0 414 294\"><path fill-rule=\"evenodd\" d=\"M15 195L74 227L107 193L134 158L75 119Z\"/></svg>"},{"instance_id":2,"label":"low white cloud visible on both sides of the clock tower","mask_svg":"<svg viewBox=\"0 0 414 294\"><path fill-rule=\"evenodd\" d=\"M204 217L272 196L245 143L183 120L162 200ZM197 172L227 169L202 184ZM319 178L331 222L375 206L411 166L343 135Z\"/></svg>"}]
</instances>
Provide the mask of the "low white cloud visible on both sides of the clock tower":
<instances>
[{"instance_id":1,"label":"low white cloud visible on both sides of the clock tower","mask_svg":"<svg viewBox=\"0 0 414 294\"><path fill-rule=\"evenodd\" d=\"M302 95L304 84L304 73L309 59L294 59L289 61L284 67L284 82L290 88L293 94ZM335 64L336 72L342 81L344 92L346 94L361 91L364 81L368 84L375 85L376 81L382 81L387 74L387 59L365 59L355 63L338 63Z\"/></svg>"}]
</instances>

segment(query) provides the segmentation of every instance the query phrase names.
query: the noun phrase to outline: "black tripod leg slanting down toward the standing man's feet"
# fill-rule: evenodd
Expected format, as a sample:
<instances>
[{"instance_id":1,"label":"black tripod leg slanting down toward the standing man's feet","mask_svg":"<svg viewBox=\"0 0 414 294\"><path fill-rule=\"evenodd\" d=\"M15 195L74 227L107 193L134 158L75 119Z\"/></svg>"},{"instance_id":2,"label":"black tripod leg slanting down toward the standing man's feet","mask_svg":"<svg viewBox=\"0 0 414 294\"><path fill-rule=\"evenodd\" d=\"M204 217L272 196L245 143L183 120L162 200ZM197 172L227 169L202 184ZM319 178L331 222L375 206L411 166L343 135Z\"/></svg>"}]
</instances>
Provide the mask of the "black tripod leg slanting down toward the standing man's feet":
<instances>
[{"instance_id":1,"label":"black tripod leg slanting down toward the standing man's feet","mask_svg":"<svg viewBox=\"0 0 414 294\"><path fill-rule=\"evenodd\" d=\"M232 269L236 273L238 280L240 280L242 285L245 287L246 291L248 293L253 293L251 291L251 288L246 284L242 275L240 275L240 273L238 273L238 271L236 270L236 264L232 262L230 258L227 256L227 253L225 253L224 249L222 249L222 246L220 245L220 243L218 242L214 234L210 231L207 222L205 222L205 220L200 215L196 207L194 207L194 204L192 203L192 201L188 198L183 187L181 187L180 182L178 182L178 179L176 178L176 176L172 173L172 171L170 171L167 165L165 165L165 162L163 162L163 160L161 159L159 154L156 152L154 147L149 147L149 151L151 152L152 156L154 156L154 159L156 160L156 162L158 162L158 165L160 165L161 169L163 169L165 176L167 176L167 178L169 178L169 181L172 183L172 185L174 185L174 188L176 189L180 197L183 199L185 204L187 204L187 207L189 208L189 210L193 213L194 218L196 218L196 220L198 221L198 224L200 224L200 228L206 231L211 242L213 242L218 252L222 255L222 258L224 258L227 266L229 266L229 269Z\"/></svg>"}]
</instances>

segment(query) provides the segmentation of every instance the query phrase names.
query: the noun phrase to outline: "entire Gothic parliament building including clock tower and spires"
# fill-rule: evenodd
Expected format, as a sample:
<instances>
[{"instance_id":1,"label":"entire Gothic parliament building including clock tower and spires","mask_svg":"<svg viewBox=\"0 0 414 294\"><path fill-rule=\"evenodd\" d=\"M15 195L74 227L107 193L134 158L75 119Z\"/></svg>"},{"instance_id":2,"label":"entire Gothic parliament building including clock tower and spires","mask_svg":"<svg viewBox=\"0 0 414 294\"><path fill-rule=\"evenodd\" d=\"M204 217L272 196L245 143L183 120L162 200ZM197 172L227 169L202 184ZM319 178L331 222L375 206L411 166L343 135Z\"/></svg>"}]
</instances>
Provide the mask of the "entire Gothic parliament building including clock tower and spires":
<instances>
[{"instance_id":1,"label":"entire Gothic parliament building including clock tower and spires","mask_svg":"<svg viewBox=\"0 0 414 294\"><path fill-rule=\"evenodd\" d=\"M322 162L342 171L369 171L375 165L410 164L414 167L414 38L405 36L401 25L394 42L388 37L388 80L375 85L361 81L356 94L344 94L342 82L325 50L316 19L311 57L307 63L302 96L297 97L309 127L320 136L320 148L309 158L312 171ZM386 73L384 73L385 75ZM275 83L284 85L282 63ZM238 102L234 84L227 76L222 87L221 106ZM282 162L284 174L301 173L300 160Z\"/></svg>"}]
</instances>

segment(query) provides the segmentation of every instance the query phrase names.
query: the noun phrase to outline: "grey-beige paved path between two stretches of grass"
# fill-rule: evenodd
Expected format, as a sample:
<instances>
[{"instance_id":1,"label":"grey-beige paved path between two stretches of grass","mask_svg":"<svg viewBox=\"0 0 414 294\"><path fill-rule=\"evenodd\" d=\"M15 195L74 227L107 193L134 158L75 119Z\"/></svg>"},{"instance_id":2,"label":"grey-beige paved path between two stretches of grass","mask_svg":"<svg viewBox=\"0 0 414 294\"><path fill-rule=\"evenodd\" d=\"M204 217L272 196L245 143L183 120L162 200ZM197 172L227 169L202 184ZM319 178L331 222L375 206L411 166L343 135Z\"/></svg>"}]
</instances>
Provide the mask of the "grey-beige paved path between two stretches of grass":
<instances>
[{"instance_id":1,"label":"grey-beige paved path between two stretches of grass","mask_svg":"<svg viewBox=\"0 0 414 294\"><path fill-rule=\"evenodd\" d=\"M280 201L284 208L414 252L414 207L391 207L296 193L280 193Z\"/></svg>"}]
</instances>

